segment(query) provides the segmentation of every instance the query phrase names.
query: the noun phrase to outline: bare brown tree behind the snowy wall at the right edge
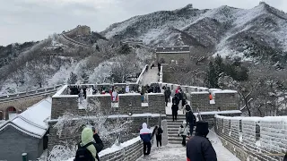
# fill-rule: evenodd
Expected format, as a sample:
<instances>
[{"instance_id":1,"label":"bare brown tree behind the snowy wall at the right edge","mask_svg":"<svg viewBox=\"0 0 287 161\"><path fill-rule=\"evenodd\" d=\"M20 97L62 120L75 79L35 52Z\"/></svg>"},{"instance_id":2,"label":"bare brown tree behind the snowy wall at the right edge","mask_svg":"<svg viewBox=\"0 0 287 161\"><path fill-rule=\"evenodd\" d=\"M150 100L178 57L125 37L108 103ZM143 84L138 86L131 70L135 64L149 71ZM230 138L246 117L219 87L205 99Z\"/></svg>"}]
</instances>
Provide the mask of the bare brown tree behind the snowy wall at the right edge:
<instances>
[{"instance_id":1,"label":"bare brown tree behind the snowy wall at the right edge","mask_svg":"<svg viewBox=\"0 0 287 161\"><path fill-rule=\"evenodd\" d=\"M275 71L264 64L251 65L248 80L236 81L222 75L219 85L222 89L235 89L239 92L241 110L248 115L276 115L283 105L286 92L286 71Z\"/></svg>"}]
</instances>

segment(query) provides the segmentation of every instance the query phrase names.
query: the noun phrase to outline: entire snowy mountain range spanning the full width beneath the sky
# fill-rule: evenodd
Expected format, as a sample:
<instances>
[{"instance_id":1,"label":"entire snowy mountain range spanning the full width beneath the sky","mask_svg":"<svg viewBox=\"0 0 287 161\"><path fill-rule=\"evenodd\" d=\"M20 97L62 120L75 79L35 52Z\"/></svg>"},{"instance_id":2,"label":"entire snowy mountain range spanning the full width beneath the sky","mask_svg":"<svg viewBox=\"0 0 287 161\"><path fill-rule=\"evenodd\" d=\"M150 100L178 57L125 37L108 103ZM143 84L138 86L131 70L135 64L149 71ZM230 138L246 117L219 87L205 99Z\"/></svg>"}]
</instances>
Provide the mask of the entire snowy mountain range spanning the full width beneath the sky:
<instances>
[{"instance_id":1,"label":"entire snowy mountain range spanning the full width beneath the sky","mask_svg":"<svg viewBox=\"0 0 287 161\"><path fill-rule=\"evenodd\" d=\"M148 47L201 47L206 50L200 58L219 54L281 68L287 62L286 31L287 14L265 3L252 9L224 5L204 10L188 4L135 16L100 33L61 33L39 42L0 47L0 94L65 83L71 72L91 83L123 79L126 73L117 69L127 69L125 62L130 63L128 69L135 68L125 72L138 72L154 56L151 51L123 46L120 41L127 38L141 39ZM120 74L116 77L112 72Z\"/></svg>"}]
</instances>

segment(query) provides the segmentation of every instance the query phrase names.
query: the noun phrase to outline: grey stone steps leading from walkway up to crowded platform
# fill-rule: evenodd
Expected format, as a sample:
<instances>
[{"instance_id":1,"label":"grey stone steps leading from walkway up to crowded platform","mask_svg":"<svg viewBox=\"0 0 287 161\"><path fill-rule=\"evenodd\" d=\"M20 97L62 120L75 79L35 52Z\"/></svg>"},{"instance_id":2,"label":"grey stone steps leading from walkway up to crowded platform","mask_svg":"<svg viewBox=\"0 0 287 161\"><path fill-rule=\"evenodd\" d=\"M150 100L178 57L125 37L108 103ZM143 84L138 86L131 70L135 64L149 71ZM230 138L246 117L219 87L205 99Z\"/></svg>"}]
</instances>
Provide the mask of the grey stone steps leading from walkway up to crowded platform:
<instances>
[{"instance_id":1,"label":"grey stone steps leading from walkway up to crowded platform","mask_svg":"<svg viewBox=\"0 0 287 161\"><path fill-rule=\"evenodd\" d=\"M185 120L185 114L178 114L178 121L172 122L172 115L167 114L169 144L181 144L182 138L178 137L178 128Z\"/></svg>"}]
</instances>

